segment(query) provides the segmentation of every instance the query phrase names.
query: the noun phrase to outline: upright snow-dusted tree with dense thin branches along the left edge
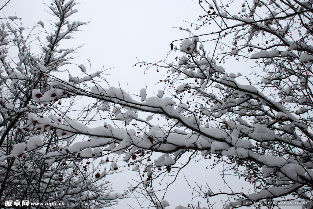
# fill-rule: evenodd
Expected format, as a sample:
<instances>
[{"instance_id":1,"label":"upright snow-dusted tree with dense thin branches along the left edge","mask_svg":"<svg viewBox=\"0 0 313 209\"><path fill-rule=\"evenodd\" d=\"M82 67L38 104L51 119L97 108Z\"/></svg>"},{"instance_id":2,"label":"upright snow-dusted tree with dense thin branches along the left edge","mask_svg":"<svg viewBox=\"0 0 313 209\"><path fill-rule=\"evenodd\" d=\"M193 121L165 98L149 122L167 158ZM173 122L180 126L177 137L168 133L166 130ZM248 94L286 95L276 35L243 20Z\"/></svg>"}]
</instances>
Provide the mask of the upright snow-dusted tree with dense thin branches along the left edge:
<instances>
[{"instance_id":1,"label":"upright snow-dusted tree with dense thin branches along the left edge","mask_svg":"<svg viewBox=\"0 0 313 209\"><path fill-rule=\"evenodd\" d=\"M1 9L9 2L5 2ZM71 97L65 105L55 93L45 102L42 95L49 92L52 75L62 73L59 68L70 62L72 52L77 49L61 48L62 42L86 24L70 20L77 12L73 8L75 4L75 1L51 1L47 8L55 21L48 22L50 27L39 21L29 29L16 16L1 19L2 206L9 200L65 202L66 205L60 208L95 208L115 203L116 195L110 193L109 183L101 180L105 171L97 173L94 172L97 166L87 167L92 157L101 156L100 148L95 149L98 151L94 150L93 155L70 152L67 147L75 137L66 137L65 132L41 123L42 120L61 122L77 100L64 91L62 94ZM46 37L42 38L43 35ZM32 49L33 42L40 46L39 52ZM83 66L79 67L84 71ZM76 115L77 120L84 122L81 117Z\"/></svg>"}]
</instances>

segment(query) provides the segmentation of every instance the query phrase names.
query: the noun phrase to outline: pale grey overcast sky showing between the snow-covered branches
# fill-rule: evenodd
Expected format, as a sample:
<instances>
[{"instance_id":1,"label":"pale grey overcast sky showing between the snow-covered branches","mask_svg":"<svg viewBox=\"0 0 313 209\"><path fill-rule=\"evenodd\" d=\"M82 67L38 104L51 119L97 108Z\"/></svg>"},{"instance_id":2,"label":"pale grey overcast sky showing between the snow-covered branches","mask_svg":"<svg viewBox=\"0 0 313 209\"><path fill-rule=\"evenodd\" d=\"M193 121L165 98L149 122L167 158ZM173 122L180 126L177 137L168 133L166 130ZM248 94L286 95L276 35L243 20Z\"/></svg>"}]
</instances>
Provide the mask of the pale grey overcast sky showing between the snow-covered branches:
<instances>
[{"instance_id":1,"label":"pale grey overcast sky showing between the snow-covered branches","mask_svg":"<svg viewBox=\"0 0 313 209\"><path fill-rule=\"evenodd\" d=\"M45 11L48 7L42 2L41 0L12 0L2 15L17 15L22 18L24 26L32 27L38 21L43 21L46 26L49 25L48 20L53 20L53 17ZM46 0L44 2L50 3ZM144 74L144 68L132 67L137 62L136 57L139 61L152 63L164 60L170 50L169 44L173 40L189 36L186 31L173 27L189 27L193 30L194 26L190 27L187 22L196 22L198 16L203 14L198 1L195 0L85 0L78 2L80 4L76 9L79 12L75 13L71 20L90 21L90 23L82 28L83 31L77 32L74 42L70 42L72 47L86 44L77 51L79 58L75 60L75 63L84 64L87 67L89 64L87 60L90 60L93 71L100 70L102 66L105 69L114 67L107 72L111 74L108 81L113 86L117 86L120 82L121 87L127 90L127 82L129 92L139 94L139 90L147 84L148 96L154 96L152 92L162 89L162 86L155 86L155 84L163 79L166 73L156 72L155 68L151 68ZM68 67L79 70L76 65ZM191 163L184 173L191 179L192 185L197 180L203 184L213 185L213 188L215 185L215 189L218 186L223 187L217 184L220 179L218 172L208 171L204 165L200 168L198 164ZM182 173L180 175L182 177ZM192 179L192 177L197 179ZM123 192L119 190L122 188L121 185L125 186L127 183L127 178L123 177L123 174L117 175L116 179L110 177L110 180L118 185L118 192ZM182 189L186 187L188 186L184 178L180 178L175 183L167 198L171 204L169 208L175 208L180 204L187 207L191 196L190 192ZM127 203L134 208L138 207L136 200L131 199L122 201L114 208L130 208L126 205Z\"/></svg>"}]
</instances>

